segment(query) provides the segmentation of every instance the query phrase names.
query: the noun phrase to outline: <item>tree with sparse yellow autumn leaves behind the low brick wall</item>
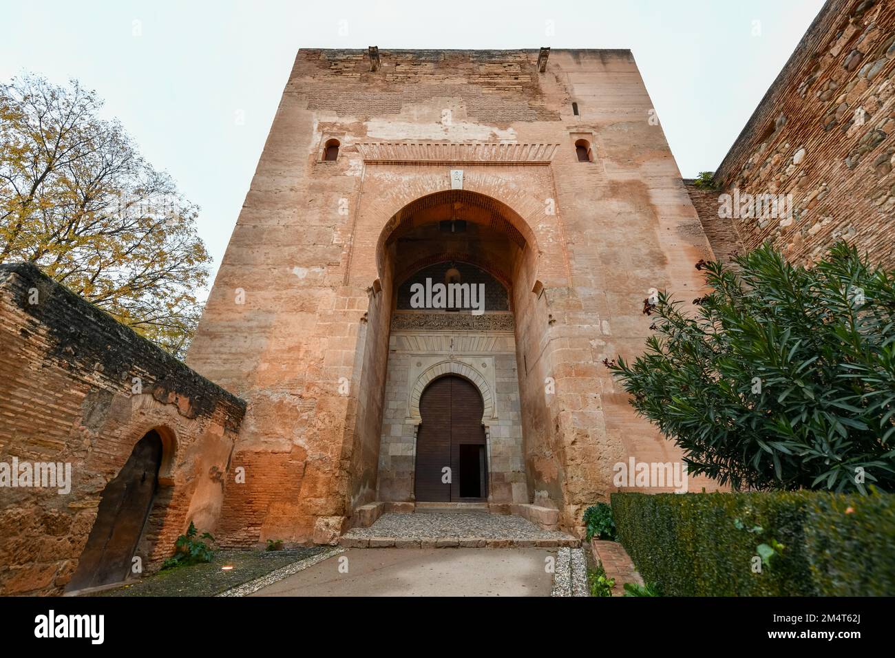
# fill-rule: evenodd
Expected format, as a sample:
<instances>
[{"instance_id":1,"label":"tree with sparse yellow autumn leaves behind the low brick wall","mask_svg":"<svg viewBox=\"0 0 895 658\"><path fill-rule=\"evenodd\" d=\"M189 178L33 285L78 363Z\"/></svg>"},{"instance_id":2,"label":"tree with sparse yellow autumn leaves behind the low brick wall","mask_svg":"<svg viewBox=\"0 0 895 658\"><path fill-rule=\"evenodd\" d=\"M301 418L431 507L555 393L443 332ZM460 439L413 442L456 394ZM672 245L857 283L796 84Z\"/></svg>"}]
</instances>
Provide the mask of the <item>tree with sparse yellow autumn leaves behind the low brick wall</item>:
<instances>
[{"instance_id":1,"label":"tree with sparse yellow autumn leaves behind the low brick wall","mask_svg":"<svg viewBox=\"0 0 895 658\"><path fill-rule=\"evenodd\" d=\"M210 257L198 207L77 81L0 85L0 262L28 261L175 355Z\"/></svg>"}]
</instances>

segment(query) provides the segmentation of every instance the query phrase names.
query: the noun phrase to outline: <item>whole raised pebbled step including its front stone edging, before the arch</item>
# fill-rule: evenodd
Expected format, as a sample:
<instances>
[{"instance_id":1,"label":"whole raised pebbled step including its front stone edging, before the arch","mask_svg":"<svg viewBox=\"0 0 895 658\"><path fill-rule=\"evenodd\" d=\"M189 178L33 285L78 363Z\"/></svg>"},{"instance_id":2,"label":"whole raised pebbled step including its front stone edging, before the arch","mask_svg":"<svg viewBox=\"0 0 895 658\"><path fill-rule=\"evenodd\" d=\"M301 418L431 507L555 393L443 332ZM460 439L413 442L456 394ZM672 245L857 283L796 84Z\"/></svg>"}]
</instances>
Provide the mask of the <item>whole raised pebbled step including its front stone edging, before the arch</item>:
<instances>
[{"instance_id":1,"label":"whole raised pebbled step including its front stone edging, before the arch","mask_svg":"<svg viewBox=\"0 0 895 658\"><path fill-rule=\"evenodd\" d=\"M571 534L541 530L522 517L487 512L388 513L345 533L346 548L557 548L577 546Z\"/></svg>"}]
</instances>

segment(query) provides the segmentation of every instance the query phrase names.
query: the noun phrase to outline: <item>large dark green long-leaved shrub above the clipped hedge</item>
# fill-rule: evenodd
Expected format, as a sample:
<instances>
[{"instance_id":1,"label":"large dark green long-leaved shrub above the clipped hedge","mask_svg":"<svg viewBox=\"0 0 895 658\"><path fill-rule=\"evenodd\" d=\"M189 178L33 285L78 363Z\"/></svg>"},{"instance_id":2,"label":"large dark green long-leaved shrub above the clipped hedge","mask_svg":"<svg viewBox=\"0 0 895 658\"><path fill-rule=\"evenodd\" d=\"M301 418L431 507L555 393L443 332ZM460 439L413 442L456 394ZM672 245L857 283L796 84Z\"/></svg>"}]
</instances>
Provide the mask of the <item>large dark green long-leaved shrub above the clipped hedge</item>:
<instances>
[{"instance_id":1,"label":"large dark green long-leaved shrub above the clipped hedge","mask_svg":"<svg viewBox=\"0 0 895 658\"><path fill-rule=\"evenodd\" d=\"M656 334L605 362L691 475L734 490L895 491L895 275L847 244L813 268L763 246L737 268L700 261L685 314L644 302Z\"/></svg>"}]
</instances>

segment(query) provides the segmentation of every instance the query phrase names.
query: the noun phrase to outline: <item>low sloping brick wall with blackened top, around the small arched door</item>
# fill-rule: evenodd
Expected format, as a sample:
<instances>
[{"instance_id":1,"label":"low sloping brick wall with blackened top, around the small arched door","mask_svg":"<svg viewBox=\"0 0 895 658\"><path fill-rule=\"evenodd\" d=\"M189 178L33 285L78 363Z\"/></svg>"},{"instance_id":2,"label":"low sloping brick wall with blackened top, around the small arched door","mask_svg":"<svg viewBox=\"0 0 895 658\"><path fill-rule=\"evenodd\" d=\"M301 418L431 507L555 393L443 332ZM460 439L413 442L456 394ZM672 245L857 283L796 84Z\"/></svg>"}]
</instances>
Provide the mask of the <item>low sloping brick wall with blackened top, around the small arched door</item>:
<instances>
[{"instance_id":1,"label":"low sloping brick wall with blackened top, around the small arched door","mask_svg":"<svg viewBox=\"0 0 895 658\"><path fill-rule=\"evenodd\" d=\"M65 494L0 487L0 594L63 590L106 484L149 430L164 452L144 567L174 552L190 520L215 531L243 413L242 400L37 268L0 266L0 462L72 466Z\"/></svg>"}]
</instances>

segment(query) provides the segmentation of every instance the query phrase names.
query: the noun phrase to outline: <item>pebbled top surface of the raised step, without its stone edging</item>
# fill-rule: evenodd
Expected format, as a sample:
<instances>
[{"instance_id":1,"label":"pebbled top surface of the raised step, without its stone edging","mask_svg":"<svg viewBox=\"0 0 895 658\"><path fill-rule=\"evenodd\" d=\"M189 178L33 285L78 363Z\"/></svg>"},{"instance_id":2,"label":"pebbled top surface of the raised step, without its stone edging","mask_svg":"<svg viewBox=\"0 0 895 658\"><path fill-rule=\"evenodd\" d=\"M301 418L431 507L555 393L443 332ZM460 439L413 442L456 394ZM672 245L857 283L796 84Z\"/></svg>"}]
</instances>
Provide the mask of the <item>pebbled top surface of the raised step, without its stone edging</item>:
<instances>
[{"instance_id":1,"label":"pebbled top surface of the raised step, without its stone edging","mask_svg":"<svg viewBox=\"0 0 895 658\"><path fill-rule=\"evenodd\" d=\"M367 528L354 528L346 537L394 537L430 539L443 537L481 537L482 539L569 539L566 533L541 530L523 517L486 512L430 512L418 514L387 513Z\"/></svg>"}]
</instances>

